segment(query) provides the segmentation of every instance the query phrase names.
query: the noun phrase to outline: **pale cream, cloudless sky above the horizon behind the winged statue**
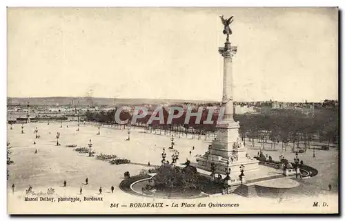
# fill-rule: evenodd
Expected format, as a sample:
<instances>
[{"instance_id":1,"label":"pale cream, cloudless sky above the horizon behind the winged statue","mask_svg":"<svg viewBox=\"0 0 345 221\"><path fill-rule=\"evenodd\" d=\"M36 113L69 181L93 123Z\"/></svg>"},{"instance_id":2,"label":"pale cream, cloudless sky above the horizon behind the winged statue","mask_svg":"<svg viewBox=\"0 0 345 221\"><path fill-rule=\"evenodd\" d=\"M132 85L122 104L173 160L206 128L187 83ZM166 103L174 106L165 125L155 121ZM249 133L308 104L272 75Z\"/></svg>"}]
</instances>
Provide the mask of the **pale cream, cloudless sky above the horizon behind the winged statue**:
<instances>
[{"instance_id":1,"label":"pale cream, cloudless sky above the horizon behind the winged statue","mask_svg":"<svg viewBox=\"0 0 345 221\"><path fill-rule=\"evenodd\" d=\"M8 96L221 101L338 98L336 8L9 8Z\"/></svg>"}]
</instances>

